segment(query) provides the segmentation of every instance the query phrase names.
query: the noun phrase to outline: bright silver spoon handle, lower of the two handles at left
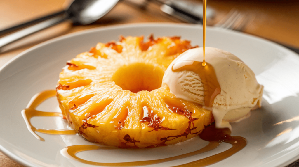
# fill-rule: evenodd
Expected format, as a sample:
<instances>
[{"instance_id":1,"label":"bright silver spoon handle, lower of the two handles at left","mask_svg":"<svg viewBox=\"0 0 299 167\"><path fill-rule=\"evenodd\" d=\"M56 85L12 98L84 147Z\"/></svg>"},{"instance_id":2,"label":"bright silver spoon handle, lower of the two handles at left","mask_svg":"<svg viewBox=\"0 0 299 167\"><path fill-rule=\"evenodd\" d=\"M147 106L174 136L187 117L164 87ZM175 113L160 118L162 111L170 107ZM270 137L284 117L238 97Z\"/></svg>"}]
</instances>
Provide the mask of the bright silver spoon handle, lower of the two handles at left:
<instances>
[{"instance_id":1,"label":"bright silver spoon handle, lower of the two handles at left","mask_svg":"<svg viewBox=\"0 0 299 167\"><path fill-rule=\"evenodd\" d=\"M0 38L0 49L9 43L12 43L13 41L24 38L30 34L33 34L35 32L38 32L38 31L48 28L50 26L59 24L59 23L65 21L66 19L68 19L68 17L66 15L56 16L54 18L51 18L46 21L42 21L42 22L35 24L33 26L30 26L28 28L25 28L20 31L14 32L12 34L6 35L6 36ZM0 52L1 52L1 50L0 50Z\"/></svg>"}]
</instances>

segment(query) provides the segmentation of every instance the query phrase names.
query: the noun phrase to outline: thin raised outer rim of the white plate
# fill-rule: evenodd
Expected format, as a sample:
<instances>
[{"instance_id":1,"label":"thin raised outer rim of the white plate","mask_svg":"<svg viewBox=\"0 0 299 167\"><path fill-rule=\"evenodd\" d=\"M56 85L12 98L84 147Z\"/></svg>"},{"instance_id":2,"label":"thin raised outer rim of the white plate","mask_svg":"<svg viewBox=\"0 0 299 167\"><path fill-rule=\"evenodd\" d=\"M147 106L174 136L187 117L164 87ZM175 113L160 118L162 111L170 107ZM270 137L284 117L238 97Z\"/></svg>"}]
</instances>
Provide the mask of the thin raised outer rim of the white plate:
<instances>
[{"instance_id":1,"label":"thin raised outer rim of the white plate","mask_svg":"<svg viewBox=\"0 0 299 167\"><path fill-rule=\"evenodd\" d=\"M77 35L84 35L84 34L88 34L88 33L95 33L95 32L100 32L100 31L105 31L105 30L111 30L111 29L124 29L124 28L142 28L142 27L164 27L164 26L170 26L170 27L188 27L188 28L202 28L202 25L199 24L187 24L187 23L127 23L127 24L117 24L117 25L108 25L108 26L101 26L101 27L95 27L95 28L90 28L90 29L85 29L85 30L81 30L81 31L77 31L77 32L72 32L69 34L65 34L65 35L61 35L59 37L55 37L52 38L50 40L46 40L42 43L39 43L35 46L32 46L28 49L26 49L25 51L22 51L21 53L17 54L15 57L13 57L12 59L10 59L8 62L6 62L2 67L0 67L0 73L5 70L6 67L8 67L11 63L13 63L14 61L16 61L19 57L25 56L25 54L29 53L30 51L33 51L35 49L38 49L42 46L46 46L48 44L51 43L55 43L59 40L63 40L66 38L72 38L74 36ZM245 34L243 32L238 32L238 31L233 31L233 30L227 30L227 29L223 29L223 28L219 28L219 27L211 27L211 26L207 26L207 30L213 30L213 31L220 31L220 32L226 32L226 33L231 33L231 34L237 34L246 38L254 38L256 40L259 40L263 43L268 43L272 46L275 46L279 49L283 49L284 51L287 51L289 53L298 55L296 52L286 48L285 46L282 46L274 41L262 38L262 37L258 37L255 35L251 35L251 34ZM5 79L5 78L4 78ZM298 148L299 150L299 148ZM12 152L8 151L6 148L4 148L2 145L0 145L0 151L5 154L7 157L11 158L12 160L24 165L24 166L28 166L28 167L41 167L39 165L33 164L31 163L31 161L26 161L23 160L22 158L16 156L16 154L13 154ZM294 150L295 151L295 150ZM289 158L289 159L285 159L283 163L280 163L280 165L276 165L275 167L284 167L289 165L290 163L295 162L296 160L299 159L299 154ZM280 161L281 162L281 161Z\"/></svg>"}]
</instances>

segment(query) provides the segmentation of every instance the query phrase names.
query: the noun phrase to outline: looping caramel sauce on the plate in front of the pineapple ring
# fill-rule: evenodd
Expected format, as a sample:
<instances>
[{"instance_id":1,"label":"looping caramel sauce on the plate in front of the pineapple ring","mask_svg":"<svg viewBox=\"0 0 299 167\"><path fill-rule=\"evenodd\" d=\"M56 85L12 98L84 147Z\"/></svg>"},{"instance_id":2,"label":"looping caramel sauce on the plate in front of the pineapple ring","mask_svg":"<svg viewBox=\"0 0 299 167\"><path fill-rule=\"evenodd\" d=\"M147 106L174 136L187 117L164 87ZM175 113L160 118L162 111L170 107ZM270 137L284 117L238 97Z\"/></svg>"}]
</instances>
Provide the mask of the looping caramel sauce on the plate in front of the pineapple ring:
<instances>
[{"instance_id":1,"label":"looping caramel sauce on the plate in front of the pineapple ring","mask_svg":"<svg viewBox=\"0 0 299 167\"><path fill-rule=\"evenodd\" d=\"M100 162L93 162L81 159L76 156L78 152L82 151L89 151L89 150L96 150L96 149L109 149L109 147L101 147L101 146L94 146L94 145L76 145L76 146L68 146L61 150L61 154L67 158L72 160L79 161L81 163L86 163L90 165L97 165L97 166L143 166L143 165L151 165L157 163L168 162L172 160L178 160L186 157L190 157L193 155L201 154L204 152L211 151L218 147L221 142L230 143L232 147L224 152L219 154L212 155L210 157L206 157L200 160L196 160L190 163L185 163L182 165L178 165L176 167L200 167L200 166L208 166L213 163L219 162L224 160L227 157L235 154L236 152L243 149L247 141L245 138L239 136L231 136L231 131L228 128L225 129L216 129L215 125L212 124L209 127L206 127L202 133L199 135L203 140L209 141L208 145L199 149L194 152L190 152L187 154L182 154L174 157L163 158L158 160L146 160L146 161L135 161L135 162L123 162L123 163L100 163ZM110 147L110 149L113 149Z\"/></svg>"}]
</instances>

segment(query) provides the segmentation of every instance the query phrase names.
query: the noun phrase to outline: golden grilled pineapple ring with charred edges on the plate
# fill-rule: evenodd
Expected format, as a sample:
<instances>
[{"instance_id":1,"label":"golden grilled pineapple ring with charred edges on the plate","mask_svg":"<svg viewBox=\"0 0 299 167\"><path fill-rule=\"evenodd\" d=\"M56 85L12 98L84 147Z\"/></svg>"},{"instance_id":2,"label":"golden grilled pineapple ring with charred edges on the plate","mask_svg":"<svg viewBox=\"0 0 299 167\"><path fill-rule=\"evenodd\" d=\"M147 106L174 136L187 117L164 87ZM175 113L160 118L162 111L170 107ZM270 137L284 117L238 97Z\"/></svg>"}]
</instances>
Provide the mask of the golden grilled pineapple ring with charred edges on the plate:
<instances>
[{"instance_id":1,"label":"golden grilled pineapple ring with charred edges on the plate","mask_svg":"<svg viewBox=\"0 0 299 167\"><path fill-rule=\"evenodd\" d=\"M91 142L120 148L174 144L198 135L212 113L170 93L164 71L191 49L179 37L120 37L67 62L56 87L63 116Z\"/></svg>"}]
</instances>

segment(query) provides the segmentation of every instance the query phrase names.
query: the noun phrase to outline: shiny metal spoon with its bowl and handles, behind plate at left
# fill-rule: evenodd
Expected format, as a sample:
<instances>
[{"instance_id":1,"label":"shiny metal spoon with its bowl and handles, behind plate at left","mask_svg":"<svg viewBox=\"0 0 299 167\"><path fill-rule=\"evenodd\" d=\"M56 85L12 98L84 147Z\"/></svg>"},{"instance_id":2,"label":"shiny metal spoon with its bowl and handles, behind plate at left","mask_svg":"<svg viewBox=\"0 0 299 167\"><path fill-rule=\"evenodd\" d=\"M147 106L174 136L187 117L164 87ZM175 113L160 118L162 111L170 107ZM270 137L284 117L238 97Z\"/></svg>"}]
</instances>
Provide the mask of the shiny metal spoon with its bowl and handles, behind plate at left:
<instances>
[{"instance_id":1,"label":"shiny metal spoon with its bowl and handles, behind plate at left","mask_svg":"<svg viewBox=\"0 0 299 167\"><path fill-rule=\"evenodd\" d=\"M14 32L10 35L0 38L0 49L3 46L12 43L18 39L24 38L30 34L33 34L34 32L38 32L42 29L54 26L66 20L71 20L73 23L83 25L93 23L94 21L97 21L99 18L103 17L106 13L108 13L117 4L118 1L119 0L74 0L68 7L68 9L58 12L57 16L45 16L42 18L38 18L34 21L29 21L28 23L24 23L22 25L26 26L28 24L33 24L36 21L45 20L50 17L46 21L42 21L38 24L35 24L33 26L30 26L28 28L22 29L20 31ZM9 29L18 28L20 28L20 25L8 28L6 30L2 30L1 32L6 32Z\"/></svg>"}]
</instances>

